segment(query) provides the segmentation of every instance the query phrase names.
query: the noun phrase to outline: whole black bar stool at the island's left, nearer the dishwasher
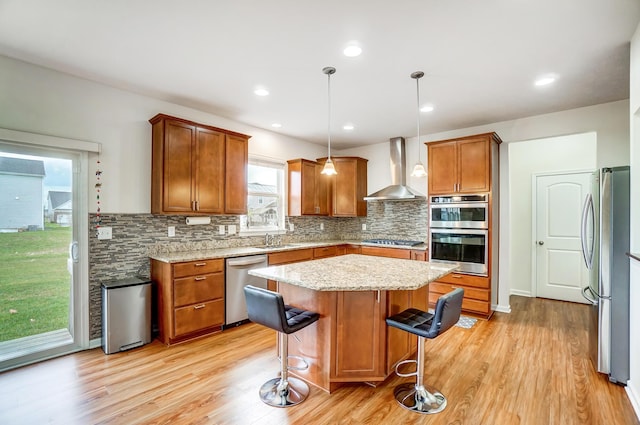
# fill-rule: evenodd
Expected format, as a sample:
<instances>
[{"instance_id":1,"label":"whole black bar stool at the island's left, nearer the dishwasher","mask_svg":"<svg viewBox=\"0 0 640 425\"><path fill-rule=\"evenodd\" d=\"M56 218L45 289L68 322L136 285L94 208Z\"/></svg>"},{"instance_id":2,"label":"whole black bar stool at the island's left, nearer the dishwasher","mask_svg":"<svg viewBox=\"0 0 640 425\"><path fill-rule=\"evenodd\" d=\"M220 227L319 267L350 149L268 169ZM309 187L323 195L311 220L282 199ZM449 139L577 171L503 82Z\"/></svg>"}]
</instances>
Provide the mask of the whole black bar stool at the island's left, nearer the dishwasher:
<instances>
[{"instance_id":1,"label":"whole black bar stool at the island's left, nearer the dishwasher","mask_svg":"<svg viewBox=\"0 0 640 425\"><path fill-rule=\"evenodd\" d=\"M288 370L304 370L308 366L289 366L288 335L317 321L318 313L301 310L284 304L282 295L263 288L247 285L244 287L249 320L278 331L280 340L280 377L265 382L260 387L260 399L270 406L289 407L303 402L309 395L309 386L302 380L289 377Z\"/></svg>"}]
</instances>

